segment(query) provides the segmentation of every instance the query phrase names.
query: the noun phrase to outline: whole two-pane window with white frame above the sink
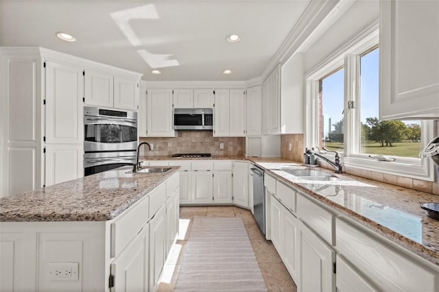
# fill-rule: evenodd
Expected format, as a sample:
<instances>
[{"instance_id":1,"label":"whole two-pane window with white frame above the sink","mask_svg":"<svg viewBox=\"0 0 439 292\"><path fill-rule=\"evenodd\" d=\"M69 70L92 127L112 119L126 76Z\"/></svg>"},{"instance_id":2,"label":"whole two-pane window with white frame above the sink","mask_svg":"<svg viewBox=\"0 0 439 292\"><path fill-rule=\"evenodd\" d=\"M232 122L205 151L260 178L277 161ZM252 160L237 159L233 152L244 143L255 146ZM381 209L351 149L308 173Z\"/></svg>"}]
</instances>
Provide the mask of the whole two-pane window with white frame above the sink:
<instances>
[{"instance_id":1,"label":"whole two-pane window with white frame above the sink","mask_svg":"<svg viewBox=\"0 0 439 292\"><path fill-rule=\"evenodd\" d=\"M339 151L345 167L433 180L432 163L418 157L434 136L431 121L379 120L378 29L354 38L306 77L307 147Z\"/></svg>"}]
</instances>

